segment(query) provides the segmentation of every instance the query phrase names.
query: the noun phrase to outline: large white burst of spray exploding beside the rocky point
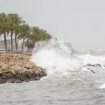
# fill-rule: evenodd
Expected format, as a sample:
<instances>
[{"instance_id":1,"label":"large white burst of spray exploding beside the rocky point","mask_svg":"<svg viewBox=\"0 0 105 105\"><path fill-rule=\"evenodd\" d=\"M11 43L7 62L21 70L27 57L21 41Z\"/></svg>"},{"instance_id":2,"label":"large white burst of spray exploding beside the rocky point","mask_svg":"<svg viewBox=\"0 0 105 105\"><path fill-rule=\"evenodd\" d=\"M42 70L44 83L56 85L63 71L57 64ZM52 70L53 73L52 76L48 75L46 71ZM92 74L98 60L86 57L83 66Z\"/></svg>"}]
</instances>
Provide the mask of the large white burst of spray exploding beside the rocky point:
<instances>
[{"instance_id":1,"label":"large white burst of spray exploding beside the rocky point","mask_svg":"<svg viewBox=\"0 0 105 105\"><path fill-rule=\"evenodd\" d=\"M45 68L48 75L67 75L80 68L80 60L72 56L71 44L50 40L39 42L33 51L32 61Z\"/></svg>"}]
</instances>

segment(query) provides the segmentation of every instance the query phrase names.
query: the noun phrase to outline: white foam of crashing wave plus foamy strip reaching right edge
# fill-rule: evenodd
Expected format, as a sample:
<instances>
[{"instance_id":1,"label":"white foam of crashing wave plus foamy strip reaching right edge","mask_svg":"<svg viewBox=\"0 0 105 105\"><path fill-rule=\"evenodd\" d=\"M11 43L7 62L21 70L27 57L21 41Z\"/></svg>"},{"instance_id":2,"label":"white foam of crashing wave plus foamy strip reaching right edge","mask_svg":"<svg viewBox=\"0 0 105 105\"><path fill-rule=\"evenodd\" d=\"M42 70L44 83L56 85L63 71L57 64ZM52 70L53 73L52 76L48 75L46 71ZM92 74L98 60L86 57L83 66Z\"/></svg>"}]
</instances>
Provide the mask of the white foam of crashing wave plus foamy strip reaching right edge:
<instances>
[{"instance_id":1,"label":"white foam of crashing wave plus foamy strip reaching right edge","mask_svg":"<svg viewBox=\"0 0 105 105\"><path fill-rule=\"evenodd\" d=\"M90 65L105 65L105 56L91 54L72 54L71 44L63 41L50 40L39 42L33 51L32 61L45 68L48 75L70 74L71 71L92 71ZM95 67L95 66L94 66Z\"/></svg>"}]
</instances>

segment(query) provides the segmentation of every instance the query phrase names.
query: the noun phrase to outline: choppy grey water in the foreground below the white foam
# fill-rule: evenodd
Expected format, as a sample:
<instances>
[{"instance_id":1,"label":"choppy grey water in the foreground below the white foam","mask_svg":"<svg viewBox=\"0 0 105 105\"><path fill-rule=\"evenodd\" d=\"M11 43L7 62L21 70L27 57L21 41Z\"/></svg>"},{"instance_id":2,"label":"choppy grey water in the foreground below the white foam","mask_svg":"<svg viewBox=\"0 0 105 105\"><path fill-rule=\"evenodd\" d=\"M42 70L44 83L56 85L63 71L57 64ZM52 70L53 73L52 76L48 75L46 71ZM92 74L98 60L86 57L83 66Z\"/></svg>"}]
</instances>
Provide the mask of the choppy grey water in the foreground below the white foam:
<instances>
[{"instance_id":1,"label":"choppy grey water in the foreground below the white foam","mask_svg":"<svg viewBox=\"0 0 105 105\"><path fill-rule=\"evenodd\" d=\"M2 84L0 105L105 105L105 89L101 88L104 81L105 72L85 71L66 77L50 76L40 81Z\"/></svg>"}]
</instances>

